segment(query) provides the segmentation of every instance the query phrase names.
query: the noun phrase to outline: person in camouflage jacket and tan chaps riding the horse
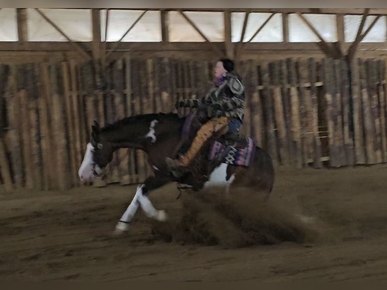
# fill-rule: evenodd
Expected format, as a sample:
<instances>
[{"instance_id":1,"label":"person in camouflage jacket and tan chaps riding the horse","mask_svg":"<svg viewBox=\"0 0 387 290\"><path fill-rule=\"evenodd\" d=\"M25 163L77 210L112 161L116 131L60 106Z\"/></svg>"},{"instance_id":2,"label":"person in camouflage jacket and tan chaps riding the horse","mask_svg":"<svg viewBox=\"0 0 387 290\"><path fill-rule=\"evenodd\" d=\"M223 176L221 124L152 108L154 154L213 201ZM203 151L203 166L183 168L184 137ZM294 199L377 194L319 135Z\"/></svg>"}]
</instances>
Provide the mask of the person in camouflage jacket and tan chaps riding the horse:
<instances>
[{"instance_id":1,"label":"person in camouflage jacket and tan chaps riding the horse","mask_svg":"<svg viewBox=\"0 0 387 290\"><path fill-rule=\"evenodd\" d=\"M206 108L211 118L198 131L191 147L179 159L167 157L166 163L175 175L182 171L200 151L205 141L214 132L224 129L228 125L228 139L238 137L240 125L244 118L245 86L240 76L233 72L234 63L230 59L220 59L215 66L215 84L203 99L183 100L176 102L178 108Z\"/></svg>"}]
</instances>

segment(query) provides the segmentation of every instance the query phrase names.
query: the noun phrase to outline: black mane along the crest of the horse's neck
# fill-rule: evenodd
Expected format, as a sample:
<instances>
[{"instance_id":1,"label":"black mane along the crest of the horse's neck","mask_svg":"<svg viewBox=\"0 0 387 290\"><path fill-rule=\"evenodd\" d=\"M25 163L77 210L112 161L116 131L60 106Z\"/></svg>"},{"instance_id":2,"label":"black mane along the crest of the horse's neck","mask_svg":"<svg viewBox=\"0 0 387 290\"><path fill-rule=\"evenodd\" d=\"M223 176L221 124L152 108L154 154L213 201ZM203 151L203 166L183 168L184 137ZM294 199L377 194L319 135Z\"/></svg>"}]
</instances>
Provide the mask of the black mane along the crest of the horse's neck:
<instances>
[{"instance_id":1,"label":"black mane along the crest of the horse's neck","mask_svg":"<svg viewBox=\"0 0 387 290\"><path fill-rule=\"evenodd\" d=\"M153 120L158 121L178 121L183 120L184 117L179 116L175 113L152 113L152 114L139 114L130 117L123 118L121 120L117 120L114 123L108 124L105 127L101 128L100 132L106 132L114 129L118 129L119 127L130 125L137 122L146 122L150 123Z\"/></svg>"}]
</instances>

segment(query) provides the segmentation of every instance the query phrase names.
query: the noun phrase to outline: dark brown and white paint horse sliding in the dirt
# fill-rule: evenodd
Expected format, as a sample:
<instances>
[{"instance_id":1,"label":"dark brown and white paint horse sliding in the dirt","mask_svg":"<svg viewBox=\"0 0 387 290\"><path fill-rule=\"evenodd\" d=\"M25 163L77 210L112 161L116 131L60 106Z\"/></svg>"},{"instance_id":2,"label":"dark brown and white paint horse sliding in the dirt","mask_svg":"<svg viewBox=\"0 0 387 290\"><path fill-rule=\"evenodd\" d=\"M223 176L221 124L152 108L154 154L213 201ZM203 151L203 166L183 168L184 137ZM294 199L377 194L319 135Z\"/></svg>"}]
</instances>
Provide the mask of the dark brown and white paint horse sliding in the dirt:
<instances>
[{"instance_id":1,"label":"dark brown and white paint horse sliding in the dirt","mask_svg":"<svg viewBox=\"0 0 387 290\"><path fill-rule=\"evenodd\" d=\"M93 122L91 137L78 171L84 184L106 177L113 153L121 148L142 150L153 169L153 175L137 187L132 201L116 224L115 232L129 229L139 206L147 217L165 221L165 211L155 209L148 196L152 190L170 182L177 182L179 189L190 188L193 191L217 186L228 192L230 187L247 186L265 192L265 200L269 197L274 183L272 159L251 138L246 138L250 142L239 142L239 147L236 143L226 146L221 142L220 133L215 133L192 160L188 172L176 177L169 171L166 158L174 158L184 152L200 126L197 114L181 116L176 113L134 115L102 128L97 121ZM235 162L237 151L243 153L240 156L244 158L239 158L239 161L243 159L245 163ZM249 157L251 160L246 163Z\"/></svg>"}]
</instances>

